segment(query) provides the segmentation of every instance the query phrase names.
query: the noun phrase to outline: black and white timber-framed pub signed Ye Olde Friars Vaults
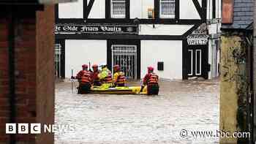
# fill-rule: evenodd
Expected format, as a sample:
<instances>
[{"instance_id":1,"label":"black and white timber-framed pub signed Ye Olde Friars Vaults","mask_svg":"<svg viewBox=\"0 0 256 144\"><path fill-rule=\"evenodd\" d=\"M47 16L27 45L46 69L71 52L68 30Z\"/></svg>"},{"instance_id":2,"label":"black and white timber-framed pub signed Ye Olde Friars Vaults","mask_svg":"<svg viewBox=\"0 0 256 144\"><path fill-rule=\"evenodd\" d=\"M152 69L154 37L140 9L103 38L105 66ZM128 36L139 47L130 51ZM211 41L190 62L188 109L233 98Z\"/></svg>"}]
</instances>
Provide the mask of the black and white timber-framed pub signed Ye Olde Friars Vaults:
<instances>
[{"instance_id":1,"label":"black and white timber-framed pub signed Ye Olde Friars Vaults","mask_svg":"<svg viewBox=\"0 0 256 144\"><path fill-rule=\"evenodd\" d=\"M56 5L56 71L82 64L120 64L140 79L219 75L221 0L78 0Z\"/></svg>"}]
</instances>

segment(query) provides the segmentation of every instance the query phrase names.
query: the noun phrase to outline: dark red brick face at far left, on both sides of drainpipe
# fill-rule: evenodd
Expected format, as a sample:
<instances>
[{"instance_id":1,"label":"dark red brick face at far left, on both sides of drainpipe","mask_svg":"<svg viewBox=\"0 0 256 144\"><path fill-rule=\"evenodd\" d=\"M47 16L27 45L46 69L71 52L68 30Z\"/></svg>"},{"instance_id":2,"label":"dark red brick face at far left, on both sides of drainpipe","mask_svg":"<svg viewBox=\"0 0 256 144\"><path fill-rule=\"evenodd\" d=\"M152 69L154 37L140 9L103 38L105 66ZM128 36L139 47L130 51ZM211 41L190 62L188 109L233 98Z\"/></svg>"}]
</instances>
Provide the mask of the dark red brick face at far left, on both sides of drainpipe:
<instances>
[{"instance_id":1,"label":"dark red brick face at far left, on both sides of drainpipe","mask_svg":"<svg viewBox=\"0 0 256 144\"><path fill-rule=\"evenodd\" d=\"M35 18L16 19L15 23L15 94L16 122L31 123L36 121L36 23ZM7 142L5 123L9 122L9 72L7 29L8 20L0 20L0 142ZM4 61L2 61L4 59ZM34 135L17 134L19 142L34 143Z\"/></svg>"}]
</instances>

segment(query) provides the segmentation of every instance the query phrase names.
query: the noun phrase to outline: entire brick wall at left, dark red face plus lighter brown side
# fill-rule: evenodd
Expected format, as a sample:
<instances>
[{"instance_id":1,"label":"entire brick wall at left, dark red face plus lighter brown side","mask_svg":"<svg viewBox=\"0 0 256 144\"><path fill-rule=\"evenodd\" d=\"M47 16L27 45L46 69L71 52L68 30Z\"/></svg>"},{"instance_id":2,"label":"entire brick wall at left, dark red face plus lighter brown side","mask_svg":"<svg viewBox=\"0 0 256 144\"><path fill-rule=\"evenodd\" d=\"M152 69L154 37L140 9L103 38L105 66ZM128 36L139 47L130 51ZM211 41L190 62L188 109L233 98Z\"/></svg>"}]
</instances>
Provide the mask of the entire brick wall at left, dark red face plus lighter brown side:
<instances>
[{"instance_id":1,"label":"entire brick wall at left, dark red face plus lighter brown side","mask_svg":"<svg viewBox=\"0 0 256 144\"><path fill-rule=\"evenodd\" d=\"M31 14L31 12L30 12ZM33 14L33 11L32 11ZM35 14L35 13L34 13ZM37 17L37 18L36 18ZM34 17L21 15L15 23L16 122L54 122L54 8L45 7ZM5 134L9 122L7 18L0 18L0 143L8 143ZM18 143L53 143L53 134L16 134Z\"/></svg>"}]
</instances>

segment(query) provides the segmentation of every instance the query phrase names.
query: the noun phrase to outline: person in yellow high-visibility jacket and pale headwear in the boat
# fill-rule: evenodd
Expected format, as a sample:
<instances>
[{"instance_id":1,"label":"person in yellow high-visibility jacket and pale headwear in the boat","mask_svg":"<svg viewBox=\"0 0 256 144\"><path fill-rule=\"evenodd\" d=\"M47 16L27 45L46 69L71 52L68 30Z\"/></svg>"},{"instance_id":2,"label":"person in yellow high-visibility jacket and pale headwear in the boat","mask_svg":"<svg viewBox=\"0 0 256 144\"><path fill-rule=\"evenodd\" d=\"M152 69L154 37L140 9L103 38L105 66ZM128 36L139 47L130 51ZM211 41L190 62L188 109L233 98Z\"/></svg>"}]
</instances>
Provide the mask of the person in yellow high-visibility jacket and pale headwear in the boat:
<instances>
[{"instance_id":1,"label":"person in yellow high-visibility jacket and pale headwear in the boat","mask_svg":"<svg viewBox=\"0 0 256 144\"><path fill-rule=\"evenodd\" d=\"M99 72L99 80L102 83L101 88L110 88L112 86L112 73L106 64L102 64L102 70Z\"/></svg>"}]
</instances>

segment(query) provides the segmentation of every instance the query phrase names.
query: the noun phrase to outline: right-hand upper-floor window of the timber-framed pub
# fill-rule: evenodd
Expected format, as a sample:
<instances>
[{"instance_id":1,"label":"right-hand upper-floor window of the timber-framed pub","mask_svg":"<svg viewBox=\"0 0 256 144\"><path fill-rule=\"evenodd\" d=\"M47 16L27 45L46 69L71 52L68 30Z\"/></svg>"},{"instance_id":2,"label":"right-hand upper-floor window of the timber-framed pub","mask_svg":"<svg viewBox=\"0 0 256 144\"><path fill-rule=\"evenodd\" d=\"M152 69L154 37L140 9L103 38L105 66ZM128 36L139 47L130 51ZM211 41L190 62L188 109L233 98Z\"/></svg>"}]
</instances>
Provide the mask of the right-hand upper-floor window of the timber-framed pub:
<instances>
[{"instance_id":1,"label":"right-hand upper-floor window of the timber-framed pub","mask_svg":"<svg viewBox=\"0 0 256 144\"><path fill-rule=\"evenodd\" d=\"M160 0L160 18L175 18L175 0Z\"/></svg>"}]
</instances>

